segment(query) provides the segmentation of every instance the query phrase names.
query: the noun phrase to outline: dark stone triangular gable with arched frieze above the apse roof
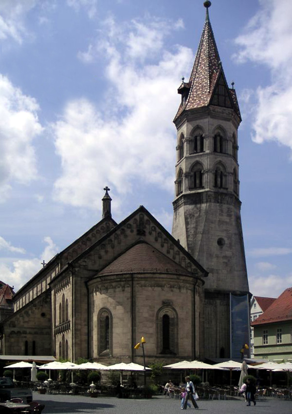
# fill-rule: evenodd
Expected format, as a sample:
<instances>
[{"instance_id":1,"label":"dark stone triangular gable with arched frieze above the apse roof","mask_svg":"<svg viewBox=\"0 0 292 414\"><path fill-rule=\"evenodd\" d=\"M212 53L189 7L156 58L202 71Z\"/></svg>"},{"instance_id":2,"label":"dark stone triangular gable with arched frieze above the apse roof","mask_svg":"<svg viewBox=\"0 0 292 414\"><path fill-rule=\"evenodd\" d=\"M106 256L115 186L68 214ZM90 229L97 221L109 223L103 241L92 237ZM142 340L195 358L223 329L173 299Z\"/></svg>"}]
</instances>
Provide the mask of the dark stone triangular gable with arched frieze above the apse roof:
<instances>
[{"instance_id":1,"label":"dark stone triangular gable with arched frieze above the apse roof","mask_svg":"<svg viewBox=\"0 0 292 414\"><path fill-rule=\"evenodd\" d=\"M82 252L70 265L85 267L97 273L141 240L155 247L188 272L199 277L208 275L208 272L143 206Z\"/></svg>"}]
</instances>

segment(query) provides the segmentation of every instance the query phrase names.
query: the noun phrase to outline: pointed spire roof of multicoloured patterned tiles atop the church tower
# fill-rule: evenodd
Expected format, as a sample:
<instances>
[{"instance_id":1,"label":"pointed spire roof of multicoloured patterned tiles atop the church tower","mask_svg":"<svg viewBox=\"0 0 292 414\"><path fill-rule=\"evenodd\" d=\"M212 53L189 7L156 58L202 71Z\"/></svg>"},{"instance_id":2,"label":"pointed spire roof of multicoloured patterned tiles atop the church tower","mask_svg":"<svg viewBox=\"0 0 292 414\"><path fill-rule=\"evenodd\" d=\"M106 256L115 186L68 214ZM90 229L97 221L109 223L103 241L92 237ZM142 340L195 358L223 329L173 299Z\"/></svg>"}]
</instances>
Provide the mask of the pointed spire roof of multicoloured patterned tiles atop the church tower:
<instances>
[{"instance_id":1,"label":"pointed spire roof of multicoloured patterned tiles atop the church tower","mask_svg":"<svg viewBox=\"0 0 292 414\"><path fill-rule=\"evenodd\" d=\"M231 107L241 119L235 90L228 87L225 79L207 9L206 20L189 82L183 82L178 90L179 93L182 93L185 87L189 89L189 94L186 101L181 103L175 119L183 111L210 105L220 75L224 78L226 94L229 96Z\"/></svg>"}]
</instances>

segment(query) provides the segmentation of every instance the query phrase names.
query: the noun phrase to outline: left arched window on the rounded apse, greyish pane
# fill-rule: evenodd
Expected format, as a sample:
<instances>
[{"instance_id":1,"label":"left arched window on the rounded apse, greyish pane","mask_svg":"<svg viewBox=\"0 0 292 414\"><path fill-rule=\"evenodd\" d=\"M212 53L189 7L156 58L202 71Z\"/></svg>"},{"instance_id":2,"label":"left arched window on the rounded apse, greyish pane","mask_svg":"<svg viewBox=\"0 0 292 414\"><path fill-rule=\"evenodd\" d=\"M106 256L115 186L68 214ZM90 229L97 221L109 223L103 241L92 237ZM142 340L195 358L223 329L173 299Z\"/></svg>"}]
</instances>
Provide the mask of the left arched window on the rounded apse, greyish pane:
<instances>
[{"instance_id":1,"label":"left arched window on the rounded apse, greyish pane","mask_svg":"<svg viewBox=\"0 0 292 414\"><path fill-rule=\"evenodd\" d=\"M98 354L111 355L112 317L108 309L101 309L98 313Z\"/></svg>"}]
</instances>

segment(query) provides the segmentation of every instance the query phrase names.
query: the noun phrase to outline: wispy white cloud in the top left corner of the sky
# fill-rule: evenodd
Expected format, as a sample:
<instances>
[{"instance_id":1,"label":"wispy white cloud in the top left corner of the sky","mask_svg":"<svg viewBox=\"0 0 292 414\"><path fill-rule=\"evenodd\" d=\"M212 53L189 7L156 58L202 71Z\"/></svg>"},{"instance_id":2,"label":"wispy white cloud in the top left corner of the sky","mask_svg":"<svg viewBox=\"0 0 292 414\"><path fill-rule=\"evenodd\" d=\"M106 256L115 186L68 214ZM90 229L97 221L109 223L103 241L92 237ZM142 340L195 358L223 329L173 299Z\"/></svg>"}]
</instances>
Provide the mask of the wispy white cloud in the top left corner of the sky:
<instances>
[{"instance_id":1,"label":"wispy white cloud in the top left corner of the sky","mask_svg":"<svg viewBox=\"0 0 292 414\"><path fill-rule=\"evenodd\" d=\"M0 40L12 38L22 43L27 35L24 20L38 0L1 0L0 1Z\"/></svg>"}]
</instances>

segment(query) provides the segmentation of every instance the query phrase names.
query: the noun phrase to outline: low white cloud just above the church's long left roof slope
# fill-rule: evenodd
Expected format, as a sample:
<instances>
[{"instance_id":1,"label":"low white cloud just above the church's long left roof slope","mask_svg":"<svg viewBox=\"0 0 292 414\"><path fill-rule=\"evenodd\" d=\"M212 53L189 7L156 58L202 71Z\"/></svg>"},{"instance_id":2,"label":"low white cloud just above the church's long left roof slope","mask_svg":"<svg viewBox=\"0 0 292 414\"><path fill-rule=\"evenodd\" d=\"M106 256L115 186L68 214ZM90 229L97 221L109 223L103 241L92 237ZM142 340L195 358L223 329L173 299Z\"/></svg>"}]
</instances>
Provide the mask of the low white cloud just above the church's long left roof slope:
<instances>
[{"instance_id":1,"label":"low white cloud just above the church's long left roof slope","mask_svg":"<svg viewBox=\"0 0 292 414\"><path fill-rule=\"evenodd\" d=\"M18 290L23 284L31 279L40 269L41 262L48 263L57 253L57 246L50 237L44 238L45 248L39 258L11 260L1 259L0 275L1 279Z\"/></svg>"}]
</instances>

